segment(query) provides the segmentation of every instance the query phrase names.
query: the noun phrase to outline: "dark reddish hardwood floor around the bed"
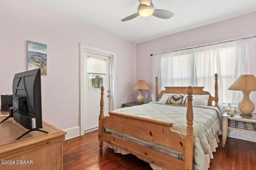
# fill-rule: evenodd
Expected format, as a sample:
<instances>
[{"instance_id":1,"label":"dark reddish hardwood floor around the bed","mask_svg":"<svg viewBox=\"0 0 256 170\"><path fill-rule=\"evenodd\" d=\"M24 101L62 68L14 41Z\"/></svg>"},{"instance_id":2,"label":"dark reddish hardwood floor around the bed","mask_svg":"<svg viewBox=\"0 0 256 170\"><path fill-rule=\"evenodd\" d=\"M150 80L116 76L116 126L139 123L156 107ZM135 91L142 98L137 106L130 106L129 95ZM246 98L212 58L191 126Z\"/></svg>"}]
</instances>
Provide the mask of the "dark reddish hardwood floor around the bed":
<instances>
[{"instance_id":1,"label":"dark reddish hardwood floor around the bed","mask_svg":"<svg viewBox=\"0 0 256 170\"><path fill-rule=\"evenodd\" d=\"M63 170L152 170L132 154L115 154L105 143L100 151L98 144L98 131L64 141ZM256 143L228 137L224 149L219 143L208 170L256 170Z\"/></svg>"}]
</instances>

